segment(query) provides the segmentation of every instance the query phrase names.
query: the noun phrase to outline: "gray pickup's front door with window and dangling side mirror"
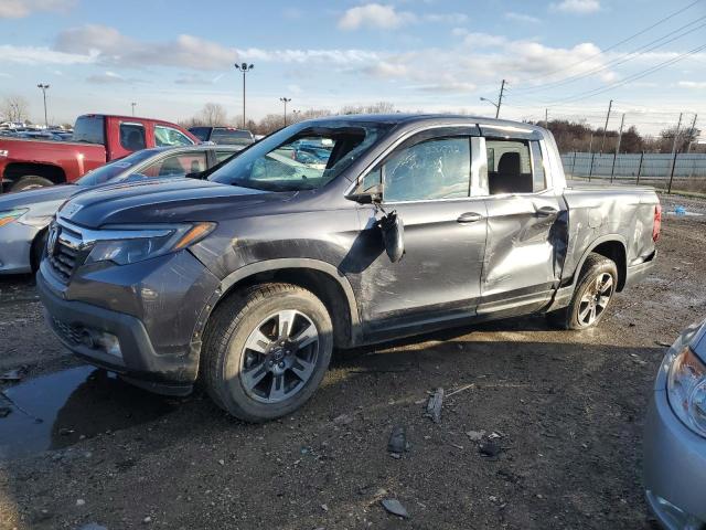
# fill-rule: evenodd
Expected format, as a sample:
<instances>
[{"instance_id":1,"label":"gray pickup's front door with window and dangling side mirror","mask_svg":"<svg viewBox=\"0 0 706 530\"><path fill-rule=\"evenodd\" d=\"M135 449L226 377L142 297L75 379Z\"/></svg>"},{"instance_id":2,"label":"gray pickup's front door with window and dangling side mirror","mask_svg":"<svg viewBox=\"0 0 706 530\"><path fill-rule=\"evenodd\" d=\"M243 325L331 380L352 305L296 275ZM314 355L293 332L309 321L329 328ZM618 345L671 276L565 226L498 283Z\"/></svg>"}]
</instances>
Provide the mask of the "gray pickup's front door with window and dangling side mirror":
<instances>
[{"instance_id":1,"label":"gray pickup's front door with window and dangling side mirror","mask_svg":"<svg viewBox=\"0 0 706 530\"><path fill-rule=\"evenodd\" d=\"M366 331L416 333L474 315L485 250L483 198L471 198L468 130L425 131L397 147L361 187L383 182L383 209L405 226L405 255L392 263L379 244L374 206L360 210L362 237L375 248L354 278Z\"/></svg>"}]
</instances>

